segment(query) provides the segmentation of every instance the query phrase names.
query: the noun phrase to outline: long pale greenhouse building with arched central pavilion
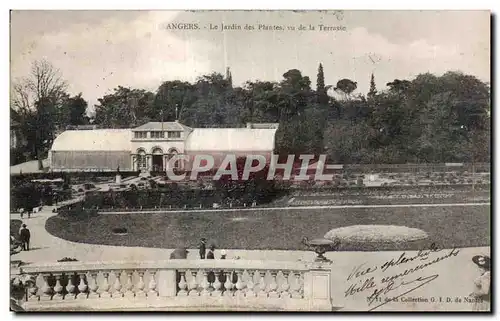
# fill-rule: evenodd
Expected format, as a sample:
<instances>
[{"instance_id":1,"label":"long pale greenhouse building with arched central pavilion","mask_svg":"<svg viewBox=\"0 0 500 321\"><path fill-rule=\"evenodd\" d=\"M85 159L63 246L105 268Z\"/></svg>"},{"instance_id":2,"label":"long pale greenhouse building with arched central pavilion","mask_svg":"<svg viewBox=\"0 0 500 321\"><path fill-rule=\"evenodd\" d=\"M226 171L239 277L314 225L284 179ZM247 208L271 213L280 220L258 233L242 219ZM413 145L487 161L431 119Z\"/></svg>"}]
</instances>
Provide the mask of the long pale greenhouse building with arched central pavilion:
<instances>
[{"instance_id":1,"label":"long pale greenhouse building with arched central pavilion","mask_svg":"<svg viewBox=\"0 0 500 321\"><path fill-rule=\"evenodd\" d=\"M226 155L245 157L274 151L277 124L246 128L191 128L179 122L149 122L130 129L67 130L49 153L52 171L189 171L196 155L210 155L217 166ZM183 160L170 164L174 155ZM202 164L203 165L203 164Z\"/></svg>"}]
</instances>

